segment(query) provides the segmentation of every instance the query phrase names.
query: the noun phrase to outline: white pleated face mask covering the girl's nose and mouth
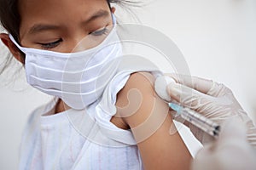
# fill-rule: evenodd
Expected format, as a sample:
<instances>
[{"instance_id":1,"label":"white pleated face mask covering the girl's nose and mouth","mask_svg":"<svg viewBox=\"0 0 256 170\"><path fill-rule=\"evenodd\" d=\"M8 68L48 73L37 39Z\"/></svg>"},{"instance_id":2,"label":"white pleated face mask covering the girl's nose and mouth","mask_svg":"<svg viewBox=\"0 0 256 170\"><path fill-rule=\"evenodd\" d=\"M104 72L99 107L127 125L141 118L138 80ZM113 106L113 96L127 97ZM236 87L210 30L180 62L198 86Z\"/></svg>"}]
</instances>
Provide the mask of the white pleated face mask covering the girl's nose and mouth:
<instances>
[{"instance_id":1,"label":"white pleated face mask covering the girl's nose and mouth","mask_svg":"<svg viewBox=\"0 0 256 170\"><path fill-rule=\"evenodd\" d=\"M73 109L84 109L99 99L115 75L122 48L113 28L108 36L94 48L76 53L58 53L15 45L26 54L27 82L45 94L61 98Z\"/></svg>"}]
</instances>

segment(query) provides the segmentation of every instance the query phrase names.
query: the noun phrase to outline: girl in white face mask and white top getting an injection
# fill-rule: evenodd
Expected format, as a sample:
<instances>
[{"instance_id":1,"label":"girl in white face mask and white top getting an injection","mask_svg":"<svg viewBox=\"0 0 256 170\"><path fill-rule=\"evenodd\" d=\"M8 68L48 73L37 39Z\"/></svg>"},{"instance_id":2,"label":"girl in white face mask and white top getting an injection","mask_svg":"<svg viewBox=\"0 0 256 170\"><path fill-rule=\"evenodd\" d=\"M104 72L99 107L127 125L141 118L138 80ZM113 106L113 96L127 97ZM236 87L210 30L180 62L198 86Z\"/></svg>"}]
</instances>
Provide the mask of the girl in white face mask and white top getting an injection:
<instances>
[{"instance_id":1,"label":"girl in white face mask and white top getting an injection","mask_svg":"<svg viewBox=\"0 0 256 170\"><path fill-rule=\"evenodd\" d=\"M102 69L95 57L114 59L120 51L114 45L90 58L91 71L79 74L82 81L74 74L91 51L118 38L110 3L127 2L1 0L0 19L9 34L0 38L25 66L27 82L55 96L33 111L27 123L20 169L189 169L189 150L178 133L169 133L172 116L154 93L150 71L138 69L119 78L109 65L109 74L100 76L103 88L91 88ZM73 53L81 41L84 49ZM106 101L114 108L103 105ZM86 135L72 116L79 117Z\"/></svg>"}]
</instances>

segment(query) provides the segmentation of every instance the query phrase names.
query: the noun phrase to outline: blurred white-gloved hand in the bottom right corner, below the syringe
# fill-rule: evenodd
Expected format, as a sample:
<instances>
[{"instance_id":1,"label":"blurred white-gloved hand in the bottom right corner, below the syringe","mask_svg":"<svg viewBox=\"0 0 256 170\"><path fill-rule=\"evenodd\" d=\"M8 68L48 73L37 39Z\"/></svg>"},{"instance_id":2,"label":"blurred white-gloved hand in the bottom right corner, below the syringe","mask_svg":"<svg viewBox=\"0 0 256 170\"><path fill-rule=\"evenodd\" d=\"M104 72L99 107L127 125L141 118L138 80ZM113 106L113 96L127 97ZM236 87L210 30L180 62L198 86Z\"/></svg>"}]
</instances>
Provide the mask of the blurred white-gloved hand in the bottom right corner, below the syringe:
<instances>
[{"instance_id":1,"label":"blurred white-gloved hand in the bottom right corner, below the syringe","mask_svg":"<svg viewBox=\"0 0 256 170\"><path fill-rule=\"evenodd\" d=\"M247 142L241 122L224 123L218 140L205 145L195 156L192 170L255 170L256 150Z\"/></svg>"}]
</instances>

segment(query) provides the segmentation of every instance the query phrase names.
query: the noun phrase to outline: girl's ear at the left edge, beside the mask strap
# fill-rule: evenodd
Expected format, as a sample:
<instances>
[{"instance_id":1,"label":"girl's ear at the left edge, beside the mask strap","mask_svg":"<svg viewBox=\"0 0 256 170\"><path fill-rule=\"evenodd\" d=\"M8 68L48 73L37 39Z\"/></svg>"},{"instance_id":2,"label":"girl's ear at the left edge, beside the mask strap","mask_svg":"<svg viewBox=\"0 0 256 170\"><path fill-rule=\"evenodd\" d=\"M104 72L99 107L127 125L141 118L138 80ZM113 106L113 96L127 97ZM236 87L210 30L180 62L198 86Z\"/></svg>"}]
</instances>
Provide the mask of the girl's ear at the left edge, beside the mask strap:
<instances>
[{"instance_id":1,"label":"girl's ear at the left edge, beside the mask strap","mask_svg":"<svg viewBox=\"0 0 256 170\"><path fill-rule=\"evenodd\" d=\"M15 56L15 59L17 59L18 61L20 61L20 63L24 65L25 64L24 56L23 54L21 54L20 49L15 46L15 43L10 40L9 35L5 33L1 33L0 38L3 44L7 48L9 48L9 51L11 52L11 54Z\"/></svg>"}]
</instances>

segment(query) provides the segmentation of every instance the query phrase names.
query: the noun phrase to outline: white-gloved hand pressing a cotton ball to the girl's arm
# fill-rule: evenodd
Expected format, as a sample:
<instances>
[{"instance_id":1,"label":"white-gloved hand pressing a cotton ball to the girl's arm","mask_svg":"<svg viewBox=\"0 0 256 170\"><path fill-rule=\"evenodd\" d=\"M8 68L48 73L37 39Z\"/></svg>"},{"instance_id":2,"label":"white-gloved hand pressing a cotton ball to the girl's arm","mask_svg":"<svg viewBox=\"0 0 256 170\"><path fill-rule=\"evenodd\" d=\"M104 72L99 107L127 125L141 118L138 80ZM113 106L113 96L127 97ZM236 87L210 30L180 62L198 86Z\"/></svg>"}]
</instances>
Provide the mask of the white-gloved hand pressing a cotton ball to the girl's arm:
<instances>
[{"instance_id":1,"label":"white-gloved hand pressing a cotton ball to the girl's arm","mask_svg":"<svg viewBox=\"0 0 256 170\"><path fill-rule=\"evenodd\" d=\"M172 102L180 103L194 111L201 113L220 126L224 121L237 117L247 126L247 140L256 148L256 127L247 113L242 110L233 93L223 84L201 79L198 77L169 75L177 83L170 83L167 91ZM180 120L178 120L181 122ZM204 133L189 122L187 125L195 138L202 144L212 141L212 136Z\"/></svg>"}]
</instances>

